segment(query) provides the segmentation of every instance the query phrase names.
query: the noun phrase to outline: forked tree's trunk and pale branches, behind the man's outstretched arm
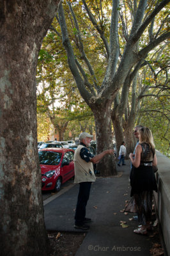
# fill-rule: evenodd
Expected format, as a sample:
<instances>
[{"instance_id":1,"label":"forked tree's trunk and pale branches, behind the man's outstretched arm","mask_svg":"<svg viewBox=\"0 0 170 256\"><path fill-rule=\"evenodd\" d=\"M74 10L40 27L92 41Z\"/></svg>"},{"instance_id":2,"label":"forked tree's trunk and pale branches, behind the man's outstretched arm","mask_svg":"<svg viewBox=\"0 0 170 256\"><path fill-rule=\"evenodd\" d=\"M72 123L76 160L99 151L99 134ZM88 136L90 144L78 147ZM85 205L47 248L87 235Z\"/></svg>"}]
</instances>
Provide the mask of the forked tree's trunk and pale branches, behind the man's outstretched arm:
<instances>
[{"instance_id":1,"label":"forked tree's trunk and pale branches, behind the man's outstretched arm","mask_svg":"<svg viewBox=\"0 0 170 256\"><path fill-rule=\"evenodd\" d=\"M116 94L120 90L121 86L125 82L130 70L139 63L140 60L146 58L148 52L150 52L155 46L166 40L169 37L169 33L165 32L157 38L153 38L152 42L144 46L140 51L135 51L135 44L139 41L145 29L149 26L150 22L157 15L164 6L166 6L169 1L163 0L158 4L153 12L144 19L144 12L148 1L139 1L137 6L136 15L132 24L132 29L130 35L127 38L127 43L125 44L123 54L119 60L120 45L118 40L118 12L119 12L119 1L112 1L112 13L111 13L111 27L109 35L109 43L104 35L102 26L98 24L95 16L91 13L86 4L85 0L82 0L84 4L84 9L88 13L89 20L93 23L95 28L102 39L105 46L105 56L108 60L107 68L105 70L105 76L102 84L98 84L98 79L95 76L95 71L90 65L90 62L84 51L81 31L79 29L79 24L73 12L72 4L68 1L68 6L70 8L70 13L72 13L73 22L75 29L77 31L77 40L79 42L78 49L81 55L81 60L86 63L86 68L88 68L89 74L93 77L93 83L90 83L88 76L86 76L86 71L82 67L78 58L75 57L73 52L72 44L70 43L70 38L68 36L68 29L65 21L65 13L63 10L63 5L59 6L59 24L61 27L63 45L67 52L68 65L73 74L77 88L81 93L82 98L86 101L88 106L93 111L95 116L96 124L96 134L97 134L97 153L102 152L105 148L112 147L111 138L111 105L116 97ZM136 3L136 1L134 1ZM86 69L87 70L87 69ZM114 156L106 156L100 164L97 166L100 170L101 175L112 175L116 173L116 167L114 163Z\"/></svg>"}]
</instances>

